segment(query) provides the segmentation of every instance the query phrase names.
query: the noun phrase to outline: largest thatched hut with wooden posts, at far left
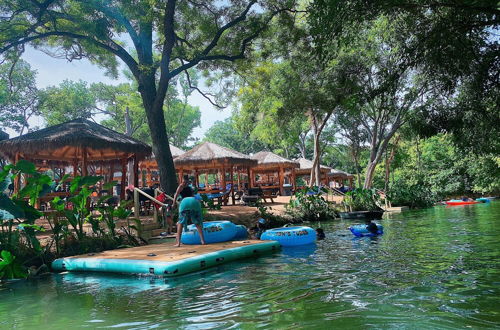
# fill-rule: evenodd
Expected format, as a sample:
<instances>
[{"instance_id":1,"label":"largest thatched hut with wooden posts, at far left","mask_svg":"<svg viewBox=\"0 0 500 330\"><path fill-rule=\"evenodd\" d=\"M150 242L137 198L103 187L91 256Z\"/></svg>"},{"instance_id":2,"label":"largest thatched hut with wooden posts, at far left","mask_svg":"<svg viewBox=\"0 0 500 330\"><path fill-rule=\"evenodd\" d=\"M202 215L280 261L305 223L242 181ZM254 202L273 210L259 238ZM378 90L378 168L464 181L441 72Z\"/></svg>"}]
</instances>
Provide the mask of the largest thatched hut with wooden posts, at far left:
<instances>
[{"instance_id":1,"label":"largest thatched hut with wooden posts, at far left","mask_svg":"<svg viewBox=\"0 0 500 330\"><path fill-rule=\"evenodd\" d=\"M24 159L33 162L39 171L50 170L56 181L70 174L73 177L102 175L104 182L111 182L115 171L120 170L118 195L119 199L124 199L128 162L132 161L137 171L139 161L151 155L151 147L89 120L75 119L0 141L0 153L12 163ZM137 179L135 176L134 183ZM24 180L18 177L14 190L20 189ZM64 198L69 194L63 188L43 198L48 201L55 196Z\"/></svg>"}]
</instances>

